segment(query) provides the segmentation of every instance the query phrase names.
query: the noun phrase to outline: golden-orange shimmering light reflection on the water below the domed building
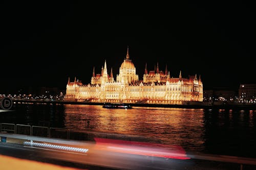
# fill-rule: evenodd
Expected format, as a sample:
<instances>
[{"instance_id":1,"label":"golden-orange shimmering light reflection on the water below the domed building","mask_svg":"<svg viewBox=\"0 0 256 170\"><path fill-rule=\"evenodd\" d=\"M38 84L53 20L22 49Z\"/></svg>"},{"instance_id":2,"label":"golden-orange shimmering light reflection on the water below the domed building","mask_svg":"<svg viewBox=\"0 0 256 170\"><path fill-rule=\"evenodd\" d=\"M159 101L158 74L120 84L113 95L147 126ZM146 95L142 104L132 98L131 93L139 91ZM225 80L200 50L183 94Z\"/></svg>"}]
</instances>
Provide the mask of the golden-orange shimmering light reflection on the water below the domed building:
<instances>
[{"instance_id":1,"label":"golden-orange shimmering light reflection on the water below the domed building","mask_svg":"<svg viewBox=\"0 0 256 170\"><path fill-rule=\"evenodd\" d=\"M88 123L89 122L89 123ZM203 109L105 109L95 105L66 105L68 129L143 135L166 144L200 145L204 142Z\"/></svg>"}]
</instances>

